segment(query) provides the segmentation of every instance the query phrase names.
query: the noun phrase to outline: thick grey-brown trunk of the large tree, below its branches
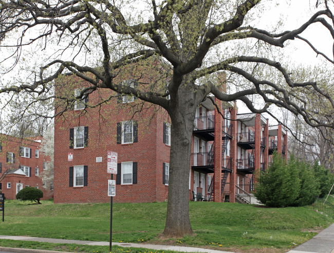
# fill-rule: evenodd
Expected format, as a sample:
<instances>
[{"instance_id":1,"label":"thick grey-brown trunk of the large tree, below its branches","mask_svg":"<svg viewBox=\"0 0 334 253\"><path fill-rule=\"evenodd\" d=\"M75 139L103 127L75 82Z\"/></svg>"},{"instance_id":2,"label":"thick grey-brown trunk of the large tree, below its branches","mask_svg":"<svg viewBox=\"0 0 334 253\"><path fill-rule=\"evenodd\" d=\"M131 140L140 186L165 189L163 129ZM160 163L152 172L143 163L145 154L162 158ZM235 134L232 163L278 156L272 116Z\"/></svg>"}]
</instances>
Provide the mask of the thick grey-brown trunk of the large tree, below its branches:
<instances>
[{"instance_id":1,"label":"thick grey-brown trunk of the large tree, below its branches","mask_svg":"<svg viewBox=\"0 0 334 253\"><path fill-rule=\"evenodd\" d=\"M189 88L189 87L188 87ZM163 237L183 237L192 234L189 217L189 173L192 131L195 109L193 93L189 89L178 91L171 117L170 178L168 188L168 207ZM189 95L191 94L191 95Z\"/></svg>"}]
</instances>

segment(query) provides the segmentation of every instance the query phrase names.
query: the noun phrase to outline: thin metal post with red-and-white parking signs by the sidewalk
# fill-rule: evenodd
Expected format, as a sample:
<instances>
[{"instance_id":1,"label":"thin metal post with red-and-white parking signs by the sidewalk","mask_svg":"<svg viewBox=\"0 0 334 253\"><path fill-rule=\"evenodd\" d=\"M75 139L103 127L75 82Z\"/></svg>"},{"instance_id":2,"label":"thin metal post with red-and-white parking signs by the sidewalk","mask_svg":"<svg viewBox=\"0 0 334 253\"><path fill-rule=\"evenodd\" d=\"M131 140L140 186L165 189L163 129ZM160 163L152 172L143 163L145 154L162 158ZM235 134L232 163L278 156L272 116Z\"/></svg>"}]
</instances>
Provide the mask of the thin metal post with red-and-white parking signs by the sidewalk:
<instances>
[{"instance_id":1,"label":"thin metal post with red-and-white parking signs by the sidewalk","mask_svg":"<svg viewBox=\"0 0 334 253\"><path fill-rule=\"evenodd\" d=\"M110 196L110 238L109 252L112 252L112 234L113 234L113 197L116 196L116 182L113 175L117 174L117 153L108 151L107 173L112 174L112 179L108 180L108 196Z\"/></svg>"}]
</instances>

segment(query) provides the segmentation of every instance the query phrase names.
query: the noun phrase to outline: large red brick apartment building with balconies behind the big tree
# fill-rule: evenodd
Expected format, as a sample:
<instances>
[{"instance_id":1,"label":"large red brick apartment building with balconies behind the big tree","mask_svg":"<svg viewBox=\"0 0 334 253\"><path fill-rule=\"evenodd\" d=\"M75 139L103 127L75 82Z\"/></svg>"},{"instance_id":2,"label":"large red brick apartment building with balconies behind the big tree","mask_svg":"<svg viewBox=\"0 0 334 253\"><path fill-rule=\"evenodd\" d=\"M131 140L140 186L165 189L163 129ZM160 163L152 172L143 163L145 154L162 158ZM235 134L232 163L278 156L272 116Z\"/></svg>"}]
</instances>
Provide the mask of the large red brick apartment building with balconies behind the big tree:
<instances>
[{"instance_id":1,"label":"large red brick apartment building with balconies behind the big tree","mask_svg":"<svg viewBox=\"0 0 334 253\"><path fill-rule=\"evenodd\" d=\"M77 94L85 86L67 77L59 95ZM126 76L128 85L150 83L146 77ZM139 82L138 81L138 82ZM64 94L62 94L64 93ZM72 110L55 118L54 203L108 202L107 151L118 153L115 202L167 200L169 180L170 122L164 110L132 96L110 99L116 93L97 90ZM92 106L102 100L101 106ZM196 112L192 137L189 199L222 202L245 200L254 172L265 169L273 150L286 156L286 131L269 126L259 114L237 114L235 105L206 100ZM56 113L67 103L56 102ZM146 108L139 115L138 107Z\"/></svg>"}]
</instances>

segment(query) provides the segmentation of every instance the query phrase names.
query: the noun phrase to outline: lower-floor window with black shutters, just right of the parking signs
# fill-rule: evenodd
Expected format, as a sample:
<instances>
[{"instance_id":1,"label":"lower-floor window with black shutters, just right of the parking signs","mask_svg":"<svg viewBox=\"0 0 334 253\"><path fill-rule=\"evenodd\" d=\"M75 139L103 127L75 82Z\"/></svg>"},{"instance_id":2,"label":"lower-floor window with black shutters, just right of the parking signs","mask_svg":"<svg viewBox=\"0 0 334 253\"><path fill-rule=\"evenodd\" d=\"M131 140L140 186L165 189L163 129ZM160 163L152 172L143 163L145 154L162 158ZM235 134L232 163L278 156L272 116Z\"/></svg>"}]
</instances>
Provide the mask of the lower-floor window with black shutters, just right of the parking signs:
<instances>
[{"instance_id":1,"label":"lower-floor window with black shutters, just right of the parking signs","mask_svg":"<svg viewBox=\"0 0 334 253\"><path fill-rule=\"evenodd\" d=\"M137 184L137 162L126 161L117 164L116 184Z\"/></svg>"}]
</instances>

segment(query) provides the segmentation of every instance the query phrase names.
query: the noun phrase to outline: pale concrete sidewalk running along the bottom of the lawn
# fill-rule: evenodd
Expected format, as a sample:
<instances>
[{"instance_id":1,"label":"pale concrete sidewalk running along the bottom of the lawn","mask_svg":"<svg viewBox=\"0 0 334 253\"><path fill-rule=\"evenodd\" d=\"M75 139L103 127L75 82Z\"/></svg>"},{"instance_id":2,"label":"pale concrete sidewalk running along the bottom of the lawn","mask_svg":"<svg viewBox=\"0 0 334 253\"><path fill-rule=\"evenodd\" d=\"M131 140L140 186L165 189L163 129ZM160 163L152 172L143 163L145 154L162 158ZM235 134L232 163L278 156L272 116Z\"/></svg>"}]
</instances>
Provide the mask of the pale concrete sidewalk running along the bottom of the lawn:
<instances>
[{"instance_id":1,"label":"pale concrete sidewalk running along the bottom of the lawn","mask_svg":"<svg viewBox=\"0 0 334 253\"><path fill-rule=\"evenodd\" d=\"M52 238L41 238L41 237L23 237L23 236L0 236L0 239L8 240L20 240L20 241L34 241L34 242L48 242L48 243L72 243L81 245L98 245L98 246L109 246L109 242L94 242L94 241L79 241L79 240L66 240L66 239L52 239ZM122 247L136 247L136 248L149 248L153 250L172 250L172 251L183 251L183 252L209 252L209 253L233 253L231 251L220 251L205 248L195 247L183 247L183 246L171 246L171 245L155 245L155 244L143 244L143 243L116 243ZM39 253L51 253L60 251L47 251L47 250L36 250L36 249L20 249L20 248L4 248L0 247L0 251L14 251L14 252L39 252ZM334 253L334 223L328 228L321 231L317 236L311 240L299 245L290 253ZM66 253L66 252L65 252Z\"/></svg>"}]
</instances>

